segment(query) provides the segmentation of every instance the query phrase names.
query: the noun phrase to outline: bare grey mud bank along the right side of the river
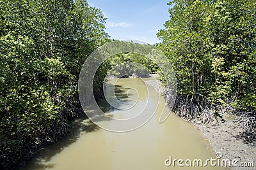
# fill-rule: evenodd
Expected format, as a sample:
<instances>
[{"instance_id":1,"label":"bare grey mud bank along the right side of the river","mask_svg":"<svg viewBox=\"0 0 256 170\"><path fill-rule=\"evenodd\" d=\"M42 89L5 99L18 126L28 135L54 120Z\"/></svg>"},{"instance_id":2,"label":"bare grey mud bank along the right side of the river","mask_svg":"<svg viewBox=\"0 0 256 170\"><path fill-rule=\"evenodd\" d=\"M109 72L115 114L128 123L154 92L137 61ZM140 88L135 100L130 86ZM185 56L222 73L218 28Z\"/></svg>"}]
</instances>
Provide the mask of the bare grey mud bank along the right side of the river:
<instances>
[{"instance_id":1,"label":"bare grey mud bank along the right side of the river","mask_svg":"<svg viewBox=\"0 0 256 170\"><path fill-rule=\"evenodd\" d=\"M151 75L157 78L157 74ZM161 81L156 80L159 87L152 81L146 81L148 85L154 86L154 89L164 96L166 88L163 86ZM256 168L256 142L246 141L245 138L241 137L242 129L233 120L236 116L234 115L223 115L223 121L214 120L209 124L200 124L193 122L198 131L204 136L207 142L212 146L212 150L222 154L223 159L229 159L230 161L238 160L237 165L241 163L253 162L253 167L236 167L231 166L231 169L255 169Z\"/></svg>"}]
</instances>

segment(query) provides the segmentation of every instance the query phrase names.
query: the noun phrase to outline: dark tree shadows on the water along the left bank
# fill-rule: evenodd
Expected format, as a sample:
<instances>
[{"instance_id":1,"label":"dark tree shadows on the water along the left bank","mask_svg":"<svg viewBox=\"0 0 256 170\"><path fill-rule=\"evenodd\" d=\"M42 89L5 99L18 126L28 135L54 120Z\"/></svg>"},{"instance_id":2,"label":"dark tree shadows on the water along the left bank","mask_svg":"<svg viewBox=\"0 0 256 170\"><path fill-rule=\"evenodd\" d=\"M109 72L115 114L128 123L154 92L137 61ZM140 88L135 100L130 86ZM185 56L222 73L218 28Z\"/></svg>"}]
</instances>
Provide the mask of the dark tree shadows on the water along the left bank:
<instances>
[{"instance_id":1,"label":"dark tree shadows on the water along the left bank","mask_svg":"<svg viewBox=\"0 0 256 170\"><path fill-rule=\"evenodd\" d=\"M108 84L111 85L111 84ZM129 100L129 96L127 94L127 91L129 88L123 88L121 85L115 85L115 95L118 98L118 100L124 102ZM104 111L104 113L109 113L111 111L117 110L116 108L113 108L106 99L102 99L97 102L100 109ZM87 115L93 115L92 120L93 121L108 121L111 119L111 115L102 116L102 114L97 113L95 108L92 108L92 106L87 106L85 108ZM68 146L72 145L72 143L75 143L77 139L81 136L81 134L95 132L100 129L97 125L93 124L91 120L89 120L86 116L84 118L78 118L74 120L70 124L71 126L71 133L68 134L65 138L62 138L60 141L57 141L56 143L52 145L45 146L38 152L36 155L36 158L34 158L33 161L33 167L26 167L26 169L51 169L54 168L55 164L48 163L54 155L57 155L62 150L67 148ZM21 167L21 169L25 169L25 167Z\"/></svg>"}]
</instances>

